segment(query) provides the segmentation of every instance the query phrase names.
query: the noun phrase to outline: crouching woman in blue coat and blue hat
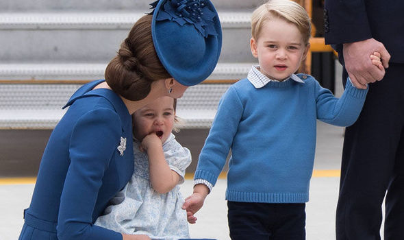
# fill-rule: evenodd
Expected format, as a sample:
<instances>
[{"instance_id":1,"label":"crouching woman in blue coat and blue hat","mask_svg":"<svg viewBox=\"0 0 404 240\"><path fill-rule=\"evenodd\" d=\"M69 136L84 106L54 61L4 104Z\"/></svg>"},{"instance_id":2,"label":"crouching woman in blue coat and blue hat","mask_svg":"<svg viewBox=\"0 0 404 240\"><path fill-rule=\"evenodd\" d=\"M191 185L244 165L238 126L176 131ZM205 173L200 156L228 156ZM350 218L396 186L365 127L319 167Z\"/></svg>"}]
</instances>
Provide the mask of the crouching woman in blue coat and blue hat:
<instances>
[{"instance_id":1,"label":"crouching woman in blue coat and blue hat","mask_svg":"<svg viewBox=\"0 0 404 240\"><path fill-rule=\"evenodd\" d=\"M205 80L221 47L212 3L162 0L153 7L153 15L132 27L105 80L85 84L66 104L42 156L19 239L149 239L93 225L134 171L131 114Z\"/></svg>"}]
</instances>

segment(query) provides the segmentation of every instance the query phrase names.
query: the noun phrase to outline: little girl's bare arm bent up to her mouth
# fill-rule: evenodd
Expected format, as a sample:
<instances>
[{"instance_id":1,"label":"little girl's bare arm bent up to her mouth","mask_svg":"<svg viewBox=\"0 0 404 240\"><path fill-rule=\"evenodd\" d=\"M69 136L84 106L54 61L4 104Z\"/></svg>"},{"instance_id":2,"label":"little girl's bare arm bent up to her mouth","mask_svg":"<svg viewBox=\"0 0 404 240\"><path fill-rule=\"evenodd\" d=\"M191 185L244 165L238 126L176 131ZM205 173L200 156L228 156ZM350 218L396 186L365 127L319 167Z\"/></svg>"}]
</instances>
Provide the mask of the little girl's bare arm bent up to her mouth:
<instances>
[{"instance_id":1,"label":"little girl's bare arm bent up to her mouth","mask_svg":"<svg viewBox=\"0 0 404 240\"><path fill-rule=\"evenodd\" d=\"M168 166L162 141L153 132L144 137L141 147L149 157L151 187L160 194L168 193L178 184L180 176Z\"/></svg>"}]
</instances>

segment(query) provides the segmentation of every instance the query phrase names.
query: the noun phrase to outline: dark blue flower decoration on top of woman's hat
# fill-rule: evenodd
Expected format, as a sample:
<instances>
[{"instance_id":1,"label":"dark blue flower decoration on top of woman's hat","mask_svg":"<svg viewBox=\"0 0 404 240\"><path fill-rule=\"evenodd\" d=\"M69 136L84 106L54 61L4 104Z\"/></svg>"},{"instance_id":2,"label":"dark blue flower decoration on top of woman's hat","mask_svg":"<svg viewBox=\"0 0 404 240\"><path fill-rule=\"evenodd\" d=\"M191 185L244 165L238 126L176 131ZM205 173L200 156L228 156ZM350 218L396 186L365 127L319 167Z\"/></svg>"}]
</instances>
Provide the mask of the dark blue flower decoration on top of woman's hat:
<instances>
[{"instance_id":1,"label":"dark blue flower decoration on top of woman's hat","mask_svg":"<svg viewBox=\"0 0 404 240\"><path fill-rule=\"evenodd\" d=\"M159 1L165 0L157 0L150 4L153 9L151 14L154 13ZM215 16L216 13L207 8L204 0L167 0L157 12L156 21L175 21L181 26L189 23L207 38L207 35L218 35L214 28Z\"/></svg>"}]
</instances>

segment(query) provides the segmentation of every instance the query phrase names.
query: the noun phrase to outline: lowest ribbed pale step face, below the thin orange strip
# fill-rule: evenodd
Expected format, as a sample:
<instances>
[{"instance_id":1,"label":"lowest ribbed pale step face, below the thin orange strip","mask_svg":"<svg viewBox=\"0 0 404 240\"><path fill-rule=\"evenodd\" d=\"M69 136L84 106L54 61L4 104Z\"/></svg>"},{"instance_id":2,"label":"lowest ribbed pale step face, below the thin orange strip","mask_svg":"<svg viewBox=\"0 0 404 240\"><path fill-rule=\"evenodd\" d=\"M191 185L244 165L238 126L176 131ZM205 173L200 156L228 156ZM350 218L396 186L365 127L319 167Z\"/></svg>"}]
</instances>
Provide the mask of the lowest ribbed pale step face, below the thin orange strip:
<instances>
[{"instance_id":1,"label":"lowest ribbed pale step face, below the thin orange strip","mask_svg":"<svg viewBox=\"0 0 404 240\"><path fill-rule=\"evenodd\" d=\"M0 84L1 129L53 129L81 84ZM210 128L220 97L231 84L199 84L178 99L179 128Z\"/></svg>"}]
</instances>

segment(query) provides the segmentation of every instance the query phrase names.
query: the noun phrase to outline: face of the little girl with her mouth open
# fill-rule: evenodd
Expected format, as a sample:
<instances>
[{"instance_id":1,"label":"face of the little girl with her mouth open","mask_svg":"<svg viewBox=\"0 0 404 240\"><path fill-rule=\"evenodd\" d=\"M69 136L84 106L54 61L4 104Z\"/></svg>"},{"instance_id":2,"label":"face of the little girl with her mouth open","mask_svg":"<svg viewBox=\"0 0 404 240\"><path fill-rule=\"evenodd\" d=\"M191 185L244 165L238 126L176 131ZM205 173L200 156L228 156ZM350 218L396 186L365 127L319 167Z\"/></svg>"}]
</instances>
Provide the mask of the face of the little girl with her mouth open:
<instances>
[{"instance_id":1,"label":"face of the little girl with her mouth open","mask_svg":"<svg viewBox=\"0 0 404 240\"><path fill-rule=\"evenodd\" d=\"M134 136L142 141L155 133L164 143L173 130L175 110L173 97L159 97L137 110L134 115Z\"/></svg>"}]
</instances>

